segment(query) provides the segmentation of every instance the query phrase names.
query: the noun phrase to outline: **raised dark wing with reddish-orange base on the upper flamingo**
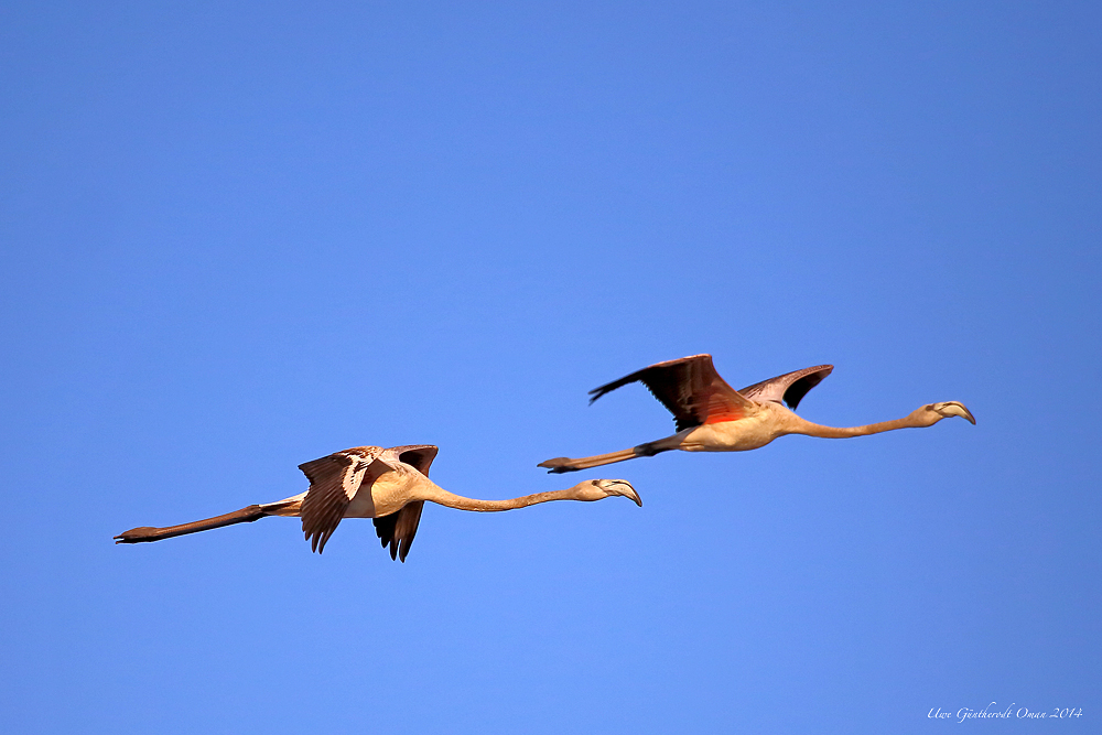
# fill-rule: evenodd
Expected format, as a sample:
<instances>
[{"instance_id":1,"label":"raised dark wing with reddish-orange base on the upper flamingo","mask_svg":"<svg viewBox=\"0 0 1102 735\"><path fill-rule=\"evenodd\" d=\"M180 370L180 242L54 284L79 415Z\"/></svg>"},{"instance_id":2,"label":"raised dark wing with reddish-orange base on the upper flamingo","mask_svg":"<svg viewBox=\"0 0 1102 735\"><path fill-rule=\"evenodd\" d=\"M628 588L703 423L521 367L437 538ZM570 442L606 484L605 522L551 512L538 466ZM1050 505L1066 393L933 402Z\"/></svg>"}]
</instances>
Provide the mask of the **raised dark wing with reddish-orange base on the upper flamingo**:
<instances>
[{"instance_id":1,"label":"raised dark wing with reddish-orange base on the upper flamingo","mask_svg":"<svg viewBox=\"0 0 1102 735\"><path fill-rule=\"evenodd\" d=\"M693 355L637 370L590 391L590 402L629 382L645 385L673 414L678 431L719 421L737 421L754 404L728 386L712 366L711 355Z\"/></svg>"}]
</instances>

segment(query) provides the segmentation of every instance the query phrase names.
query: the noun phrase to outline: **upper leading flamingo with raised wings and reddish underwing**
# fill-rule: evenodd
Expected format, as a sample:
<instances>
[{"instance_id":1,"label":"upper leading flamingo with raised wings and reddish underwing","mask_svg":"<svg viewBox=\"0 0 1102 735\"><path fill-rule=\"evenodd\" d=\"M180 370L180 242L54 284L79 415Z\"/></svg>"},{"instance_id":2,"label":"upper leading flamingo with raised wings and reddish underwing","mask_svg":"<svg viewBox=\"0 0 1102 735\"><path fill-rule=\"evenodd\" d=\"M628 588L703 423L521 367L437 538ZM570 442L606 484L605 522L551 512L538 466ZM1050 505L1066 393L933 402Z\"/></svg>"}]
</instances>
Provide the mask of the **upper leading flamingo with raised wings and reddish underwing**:
<instances>
[{"instance_id":1,"label":"upper leading flamingo with raised wings and reddish underwing","mask_svg":"<svg viewBox=\"0 0 1102 735\"><path fill-rule=\"evenodd\" d=\"M676 434L630 450L580 460L555 457L538 466L547 467L551 473L563 473L649 457L670 450L743 452L765 446L785 434L827 439L865 436L894 429L932 426L949 417L961 417L975 424L972 413L958 401L928 403L903 419L864 426L823 426L796 415L800 399L833 369L833 365L817 365L735 390L715 371L711 355L693 355L651 365L591 390L593 398L590 403L629 382L641 382L673 414L678 429Z\"/></svg>"}]
</instances>

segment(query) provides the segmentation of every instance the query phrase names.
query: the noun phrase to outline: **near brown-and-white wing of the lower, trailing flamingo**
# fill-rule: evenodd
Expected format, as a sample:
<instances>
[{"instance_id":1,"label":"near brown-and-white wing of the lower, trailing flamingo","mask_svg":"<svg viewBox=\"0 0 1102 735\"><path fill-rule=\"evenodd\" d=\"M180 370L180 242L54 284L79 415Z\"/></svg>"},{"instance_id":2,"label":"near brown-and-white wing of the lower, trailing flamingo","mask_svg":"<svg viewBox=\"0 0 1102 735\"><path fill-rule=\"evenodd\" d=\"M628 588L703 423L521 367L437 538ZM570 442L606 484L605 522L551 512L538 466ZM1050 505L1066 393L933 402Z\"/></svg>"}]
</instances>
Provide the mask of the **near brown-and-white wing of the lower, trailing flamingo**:
<instances>
[{"instance_id":1,"label":"near brown-and-white wing of the lower, trailing flamingo","mask_svg":"<svg viewBox=\"0 0 1102 735\"><path fill-rule=\"evenodd\" d=\"M302 532L310 539L311 551L325 550L325 542L337 529L360 486L365 482L370 485L391 468L379 460L381 454L378 446L357 446L299 465L310 480L301 514Z\"/></svg>"}]
</instances>

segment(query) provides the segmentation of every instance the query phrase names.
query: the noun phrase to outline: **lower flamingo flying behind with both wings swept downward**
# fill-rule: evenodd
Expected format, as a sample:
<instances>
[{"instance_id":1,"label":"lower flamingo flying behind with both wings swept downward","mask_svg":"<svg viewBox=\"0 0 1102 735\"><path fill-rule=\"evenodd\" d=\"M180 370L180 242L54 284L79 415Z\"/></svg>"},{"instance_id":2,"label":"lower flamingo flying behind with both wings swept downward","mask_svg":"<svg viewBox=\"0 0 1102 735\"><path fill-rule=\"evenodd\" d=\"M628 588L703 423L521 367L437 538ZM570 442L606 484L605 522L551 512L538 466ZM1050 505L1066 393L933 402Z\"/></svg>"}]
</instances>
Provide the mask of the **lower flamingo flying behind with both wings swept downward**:
<instances>
[{"instance_id":1,"label":"lower flamingo flying behind with both wings swept downward","mask_svg":"<svg viewBox=\"0 0 1102 735\"><path fill-rule=\"evenodd\" d=\"M266 516L302 518L302 531L312 551L321 553L342 518L371 518L390 558L406 561L425 500L449 508L474 511L512 510L551 500L601 500L614 495L641 506L638 493L623 479L593 479L565 490L537 493L508 500L477 500L449 493L429 479L437 448L431 444L356 446L299 465L310 488L277 502L252 505L224 516L192 523L120 533L116 543L160 541L234 523L250 523Z\"/></svg>"}]
</instances>

